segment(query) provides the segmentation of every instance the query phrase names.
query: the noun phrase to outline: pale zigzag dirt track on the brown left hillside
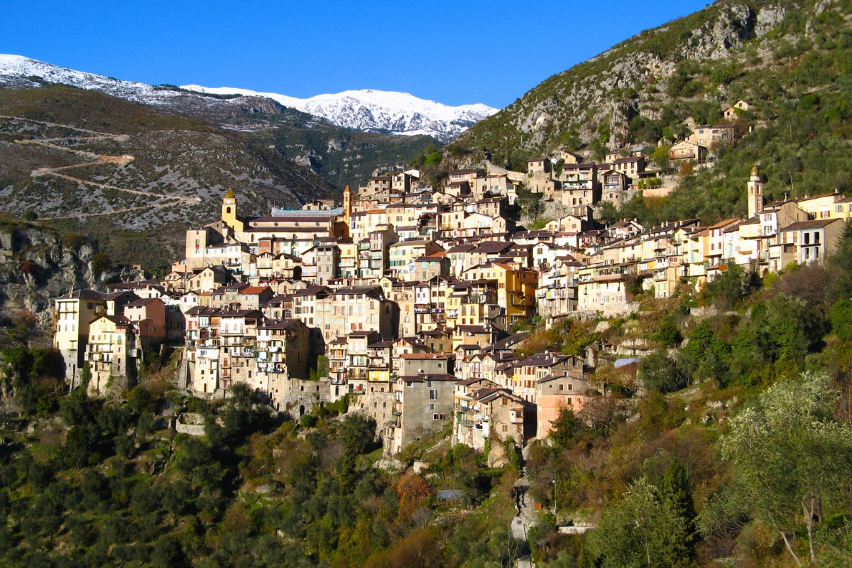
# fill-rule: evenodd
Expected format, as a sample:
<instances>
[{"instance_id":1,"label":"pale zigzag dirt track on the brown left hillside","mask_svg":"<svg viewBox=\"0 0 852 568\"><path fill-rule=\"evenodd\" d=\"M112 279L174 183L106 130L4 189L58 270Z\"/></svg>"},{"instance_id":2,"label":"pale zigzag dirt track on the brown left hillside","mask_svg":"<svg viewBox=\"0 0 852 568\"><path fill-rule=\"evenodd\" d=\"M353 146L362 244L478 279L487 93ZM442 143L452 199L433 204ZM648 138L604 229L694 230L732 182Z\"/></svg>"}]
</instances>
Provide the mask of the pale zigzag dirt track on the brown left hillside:
<instances>
[{"instance_id":1,"label":"pale zigzag dirt track on the brown left hillside","mask_svg":"<svg viewBox=\"0 0 852 568\"><path fill-rule=\"evenodd\" d=\"M7 115L0 115L0 118L9 118L11 120L20 120L29 123L38 123L44 124L45 126L51 126L56 128L64 128L70 130L76 130L78 132L84 132L89 134L89 136L66 136L60 138L43 138L39 140L16 140L15 143L20 146L43 146L45 148L50 148L52 150L60 150L62 152L71 152L81 158L88 158L89 162L83 162L82 164L72 164L70 166L60 166L58 168L37 168L33 169L30 172L32 177L40 177L43 175L53 175L54 177L59 177L64 180L74 181L76 183L82 183L88 186L95 186L101 189L111 189L118 192L126 192L126 193L135 193L136 195L144 195L146 197L153 197L158 199L165 199L163 203L159 204L150 204L150 205L137 205L135 207L125 207L124 209L112 209L111 211L102 211L99 213L79 213L76 215L56 215L52 217L53 219L75 219L78 217L94 217L98 215L116 215L120 213L126 213L128 211L138 211L141 209L157 209L160 207L168 207L170 205L178 204L178 203L186 203L186 204L199 204L201 203L200 198L184 198L173 195L161 195L159 193L153 192L143 192L138 189L128 189L126 187L119 186L110 186L106 183L99 183L97 181L83 180L82 178L74 177L72 175L61 174L60 170L62 169L71 169L71 168L81 168L83 166L96 165L96 164L112 164L112 165L126 165L130 164L134 160L133 156L129 154L123 154L121 156L105 156L101 154L96 154L95 152L88 152L85 150L77 150L75 148L71 148L68 146L60 146L59 144L55 144L55 142L70 142L70 141L95 141L95 140L113 140L117 142L125 142L130 140L130 135L115 135L107 132L97 132L96 130L89 129L81 129L76 126L72 126L70 124L60 124L60 123L50 123L43 120L35 120L32 118L20 118L20 117L9 117Z\"/></svg>"}]
</instances>

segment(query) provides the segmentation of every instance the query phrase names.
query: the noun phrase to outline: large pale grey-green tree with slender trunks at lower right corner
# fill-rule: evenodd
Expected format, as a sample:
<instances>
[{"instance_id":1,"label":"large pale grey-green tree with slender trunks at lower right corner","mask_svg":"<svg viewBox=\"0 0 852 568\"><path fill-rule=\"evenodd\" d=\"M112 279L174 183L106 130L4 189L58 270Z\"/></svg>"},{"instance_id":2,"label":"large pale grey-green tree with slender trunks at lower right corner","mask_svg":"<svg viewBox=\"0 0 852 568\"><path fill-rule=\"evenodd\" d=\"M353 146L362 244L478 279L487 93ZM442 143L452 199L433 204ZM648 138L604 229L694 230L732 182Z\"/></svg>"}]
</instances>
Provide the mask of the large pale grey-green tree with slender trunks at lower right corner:
<instances>
[{"instance_id":1,"label":"large pale grey-green tree with slender trunks at lower right corner","mask_svg":"<svg viewBox=\"0 0 852 568\"><path fill-rule=\"evenodd\" d=\"M805 525L816 564L821 503L852 475L852 426L834 418L838 398L826 373L803 373L769 387L722 437L737 490L728 498L780 536L797 565L803 565L793 543L797 527Z\"/></svg>"}]
</instances>

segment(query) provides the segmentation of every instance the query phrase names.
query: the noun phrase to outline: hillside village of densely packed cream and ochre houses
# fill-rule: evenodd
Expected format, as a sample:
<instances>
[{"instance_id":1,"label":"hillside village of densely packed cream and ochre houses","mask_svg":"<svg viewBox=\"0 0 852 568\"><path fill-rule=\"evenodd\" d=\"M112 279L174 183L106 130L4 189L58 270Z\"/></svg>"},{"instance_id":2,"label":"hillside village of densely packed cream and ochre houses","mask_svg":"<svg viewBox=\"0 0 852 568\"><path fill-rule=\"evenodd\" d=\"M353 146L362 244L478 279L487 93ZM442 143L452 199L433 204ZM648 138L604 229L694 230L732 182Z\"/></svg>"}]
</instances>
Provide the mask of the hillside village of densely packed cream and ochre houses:
<instances>
[{"instance_id":1,"label":"hillside village of densely packed cream and ochre houses","mask_svg":"<svg viewBox=\"0 0 852 568\"><path fill-rule=\"evenodd\" d=\"M55 299L66 379L92 394L132 386L169 343L185 347L177 386L202 397L245 383L301 416L348 396L350 411L376 420L388 456L448 422L453 443L480 451L489 439L544 439L560 409L602 395L591 376L598 353L628 356L636 345L519 355L537 325L624 317L636 295L698 291L734 265L763 277L836 249L852 198L767 203L757 165L742 188L746 218L596 219L604 203L665 196L664 166L711 167L748 108L740 101L725 123L691 124L672 146L622 148L602 163L563 150L529 158L521 173L486 159L450 170L443 186L407 169L347 186L342 203L268 216L240 215L245 204L228 190L221 218L187 231L185 257L164 278ZM536 230L520 224L531 200L557 213Z\"/></svg>"}]
</instances>

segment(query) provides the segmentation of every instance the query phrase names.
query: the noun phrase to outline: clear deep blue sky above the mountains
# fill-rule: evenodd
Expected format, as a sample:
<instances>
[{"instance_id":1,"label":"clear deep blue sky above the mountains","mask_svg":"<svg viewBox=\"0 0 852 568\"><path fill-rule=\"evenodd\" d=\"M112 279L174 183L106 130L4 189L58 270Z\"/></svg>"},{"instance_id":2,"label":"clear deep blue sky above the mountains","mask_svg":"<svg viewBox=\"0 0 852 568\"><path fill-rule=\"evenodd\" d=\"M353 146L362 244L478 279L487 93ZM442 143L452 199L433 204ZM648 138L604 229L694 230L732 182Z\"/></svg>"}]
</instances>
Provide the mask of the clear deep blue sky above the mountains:
<instances>
[{"instance_id":1,"label":"clear deep blue sky above the mountains","mask_svg":"<svg viewBox=\"0 0 852 568\"><path fill-rule=\"evenodd\" d=\"M506 106L707 0L0 2L0 53L144 83Z\"/></svg>"}]
</instances>

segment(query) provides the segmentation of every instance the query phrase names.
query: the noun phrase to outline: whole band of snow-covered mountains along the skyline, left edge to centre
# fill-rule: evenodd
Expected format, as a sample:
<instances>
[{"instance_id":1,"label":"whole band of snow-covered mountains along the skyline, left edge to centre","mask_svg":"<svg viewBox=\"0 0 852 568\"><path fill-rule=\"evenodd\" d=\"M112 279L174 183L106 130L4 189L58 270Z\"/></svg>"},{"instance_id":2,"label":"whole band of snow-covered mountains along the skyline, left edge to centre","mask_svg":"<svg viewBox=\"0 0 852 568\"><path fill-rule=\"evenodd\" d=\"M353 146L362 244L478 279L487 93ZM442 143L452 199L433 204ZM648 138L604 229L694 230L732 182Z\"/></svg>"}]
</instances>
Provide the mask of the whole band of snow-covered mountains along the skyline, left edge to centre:
<instances>
[{"instance_id":1,"label":"whole band of snow-covered mountains along the skyline, left edge to centre","mask_svg":"<svg viewBox=\"0 0 852 568\"><path fill-rule=\"evenodd\" d=\"M407 93L378 90L344 91L337 95L316 95L308 99L258 93L249 89L210 89L199 85L185 85L181 87L184 90L178 91L79 72L20 55L0 55L0 85L23 88L34 87L45 81L95 89L124 100L163 107L164 110L178 106L179 101L186 100L187 96L203 99L197 102L210 106L240 104L239 99L210 99L187 94L187 90L216 95L265 97L279 105L325 118L343 128L402 135L432 135L441 141L452 140L473 124L498 112L496 108L481 104L447 106L433 100L418 99Z\"/></svg>"}]
</instances>

